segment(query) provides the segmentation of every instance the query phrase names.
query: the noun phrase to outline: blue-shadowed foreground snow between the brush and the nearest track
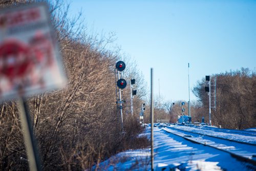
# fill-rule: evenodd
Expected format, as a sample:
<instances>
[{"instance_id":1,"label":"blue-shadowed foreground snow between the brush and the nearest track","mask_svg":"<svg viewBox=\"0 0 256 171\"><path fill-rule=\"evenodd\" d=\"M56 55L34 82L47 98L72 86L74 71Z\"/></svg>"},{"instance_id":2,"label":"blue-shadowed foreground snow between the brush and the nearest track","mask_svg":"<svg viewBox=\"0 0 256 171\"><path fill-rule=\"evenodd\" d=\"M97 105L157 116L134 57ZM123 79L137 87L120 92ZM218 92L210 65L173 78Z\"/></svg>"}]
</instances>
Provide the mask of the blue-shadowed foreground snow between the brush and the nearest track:
<instances>
[{"instance_id":1,"label":"blue-shadowed foreground snow between the brush and the nearest track","mask_svg":"<svg viewBox=\"0 0 256 171\"><path fill-rule=\"evenodd\" d=\"M150 138L151 127L145 135ZM252 170L224 152L185 141L154 127L154 169L162 170ZM94 167L95 169L96 167ZM98 170L150 170L151 149L136 149L119 153L102 162Z\"/></svg>"}]
</instances>

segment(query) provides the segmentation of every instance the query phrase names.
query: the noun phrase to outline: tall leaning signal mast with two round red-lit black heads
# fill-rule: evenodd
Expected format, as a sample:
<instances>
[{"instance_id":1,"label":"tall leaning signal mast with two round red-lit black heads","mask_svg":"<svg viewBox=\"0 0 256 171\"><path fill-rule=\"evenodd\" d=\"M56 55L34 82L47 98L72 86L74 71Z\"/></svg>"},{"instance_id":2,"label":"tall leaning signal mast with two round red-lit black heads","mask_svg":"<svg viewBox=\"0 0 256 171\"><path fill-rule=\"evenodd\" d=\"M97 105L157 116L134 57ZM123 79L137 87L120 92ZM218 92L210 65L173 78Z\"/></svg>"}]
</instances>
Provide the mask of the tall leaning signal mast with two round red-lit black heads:
<instances>
[{"instance_id":1,"label":"tall leaning signal mast with two round red-lit black heads","mask_svg":"<svg viewBox=\"0 0 256 171\"><path fill-rule=\"evenodd\" d=\"M123 130L122 103L125 102L125 100L122 100L122 89L124 89L126 87L126 84L127 84L126 80L122 78L122 71L124 69L125 69L125 63L123 61L116 62L116 69L115 69L116 104L117 104L117 108L119 108L119 110L120 110L122 130ZM116 75L117 75L118 80L116 80Z\"/></svg>"}]
</instances>

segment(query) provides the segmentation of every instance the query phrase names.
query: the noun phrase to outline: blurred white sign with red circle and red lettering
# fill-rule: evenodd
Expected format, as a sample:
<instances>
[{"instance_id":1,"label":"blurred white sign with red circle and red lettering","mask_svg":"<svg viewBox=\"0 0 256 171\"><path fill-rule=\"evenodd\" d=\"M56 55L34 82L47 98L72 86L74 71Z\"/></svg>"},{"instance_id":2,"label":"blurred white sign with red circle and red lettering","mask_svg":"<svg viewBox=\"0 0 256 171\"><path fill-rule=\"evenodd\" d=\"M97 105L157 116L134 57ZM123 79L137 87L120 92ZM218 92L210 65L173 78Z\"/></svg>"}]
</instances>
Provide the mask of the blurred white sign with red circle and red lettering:
<instances>
[{"instance_id":1,"label":"blurred white sign with red circle and red lettering","mask_svg":"<svg viewBox=\"0 0 256 171\"><path fill-rule=\"evenodd\" d=\"M62 60L44 3L0 10L0 100L59 89Z\"/></svg>"}]
</instances>

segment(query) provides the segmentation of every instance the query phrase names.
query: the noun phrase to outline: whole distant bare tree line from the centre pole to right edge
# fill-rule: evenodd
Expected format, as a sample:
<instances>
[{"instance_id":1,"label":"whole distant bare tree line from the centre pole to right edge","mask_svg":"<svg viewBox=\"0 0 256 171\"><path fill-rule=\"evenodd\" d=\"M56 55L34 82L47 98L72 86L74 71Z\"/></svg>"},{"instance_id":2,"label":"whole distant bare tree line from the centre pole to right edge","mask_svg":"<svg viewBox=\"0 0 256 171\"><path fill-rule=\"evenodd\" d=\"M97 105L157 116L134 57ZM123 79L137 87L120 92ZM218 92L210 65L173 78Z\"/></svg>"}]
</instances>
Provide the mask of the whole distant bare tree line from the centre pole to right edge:
<instances>
[{"instance_id":1,"label":"whole distant bare tree line from the centre pole to right edge","mask_svg":"<svg viewBox=\"0 0 256 171\"><path fill-rule=\"evenodd\" d=\"M237 71L229 71L213 74L216 77L216 108L211 108L211 122L213 125L226 129L247 129L256 127L256 75L255 70L241 68ZM190 102L192 122L209 123L209 96L205 92L206 80L202 78L192 89L198 98ZM158 96L155 101L155 118L169 119L170 123L176 123L181 116L180 103L184 105L185 115L188 115L186 100L164 101ZM150 111L145 116L146 122L150 123Z\"/></svg>"}]
</instances>

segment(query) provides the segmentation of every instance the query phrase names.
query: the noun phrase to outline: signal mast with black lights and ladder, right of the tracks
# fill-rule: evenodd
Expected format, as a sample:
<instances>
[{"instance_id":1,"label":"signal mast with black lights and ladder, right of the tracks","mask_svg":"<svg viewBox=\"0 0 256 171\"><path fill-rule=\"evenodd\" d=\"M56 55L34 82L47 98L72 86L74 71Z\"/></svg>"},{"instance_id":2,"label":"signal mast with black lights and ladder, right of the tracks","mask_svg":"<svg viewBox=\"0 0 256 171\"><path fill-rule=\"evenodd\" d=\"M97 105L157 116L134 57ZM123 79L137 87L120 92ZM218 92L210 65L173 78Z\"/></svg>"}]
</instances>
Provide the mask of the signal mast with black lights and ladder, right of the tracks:
<instances>
[{"instance_id":1,"label":"signal mast with black lights and ladder, right of the tracks","mask_svg":"<svg viewBox=\"0 0 256 171\"><path fill-rule=\"evenodd\" d=\"M211 125L211 108L216 110L216 77L210 78L210 76L205 76L206 86L205 92L209 95L209 125Z\"/></svg>"}]
</instances>

